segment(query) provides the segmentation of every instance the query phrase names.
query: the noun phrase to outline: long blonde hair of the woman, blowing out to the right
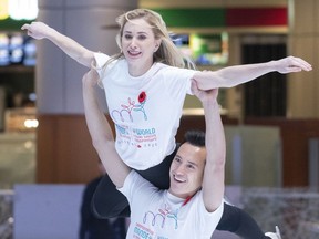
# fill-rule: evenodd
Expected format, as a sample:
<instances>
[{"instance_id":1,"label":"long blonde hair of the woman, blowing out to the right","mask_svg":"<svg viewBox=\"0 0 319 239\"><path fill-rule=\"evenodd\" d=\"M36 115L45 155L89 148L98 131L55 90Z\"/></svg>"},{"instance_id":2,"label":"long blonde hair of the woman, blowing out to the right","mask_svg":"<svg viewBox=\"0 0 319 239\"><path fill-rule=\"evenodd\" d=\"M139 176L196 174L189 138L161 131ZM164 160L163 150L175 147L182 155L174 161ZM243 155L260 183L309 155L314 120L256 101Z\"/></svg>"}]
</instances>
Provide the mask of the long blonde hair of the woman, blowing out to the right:
<instances>
[{"instance_id":1,"label":"long blonde hair of the woman, blowing out to the right","mask_svg":"<svg viewBox=\"0 0 319 239\"><path fill-rule=\"evenodd\" d=\"M162 62L176 67L195 69L195 64L186 55L184 55L172 41L161 14L148 9L135 9L116 18L116 22L120 27L120 31L116 35L116 43L120 49L125 24L135 19L144 19L152 27L155 39L161 40L161 45L153 55L154 62ZM122 58L124 58L124 54L121 50L120 53L111 56L105 65L103 65L104 71L111 62Z\"/></svg>"}]
</instances>

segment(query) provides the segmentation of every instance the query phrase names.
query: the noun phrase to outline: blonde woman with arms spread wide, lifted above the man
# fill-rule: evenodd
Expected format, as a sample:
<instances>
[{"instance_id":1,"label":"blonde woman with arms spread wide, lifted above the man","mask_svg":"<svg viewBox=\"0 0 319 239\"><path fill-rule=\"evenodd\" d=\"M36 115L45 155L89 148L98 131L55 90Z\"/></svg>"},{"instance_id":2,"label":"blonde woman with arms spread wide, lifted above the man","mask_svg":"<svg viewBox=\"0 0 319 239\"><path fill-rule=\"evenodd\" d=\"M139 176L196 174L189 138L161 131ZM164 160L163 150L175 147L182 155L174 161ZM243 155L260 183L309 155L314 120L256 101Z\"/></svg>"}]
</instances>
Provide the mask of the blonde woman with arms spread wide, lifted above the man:
<instances>
[{"instance_id":1,"label":"blonde woman with arms spread wide, lifted above the man","mask_svg":"<svg viewBox=\"0 0 319 239\"><path fill-rule=\"evenodd\" d=\"M116 150L125 164L160 188L168 187L168 169L177 148L175 135L185 96L192 94L192 79L199 89L208 90L235 86L274 71L311 70L302 59L288 56L200 72L189 69L192 62L174 45L156 12L135 9L120 15L117 23L116 41L121 52L113 56L92 52L42 22L24 24L22 29L35 39L52 41L79 63L88 67L93 64L115 123ZM143 160L145 155L148 160ZM107 177L95 193L94 210L103 218L130 212L127 200ZM245 238L264 237L248 215L229 205L225 205L217 229Z\"/></svg>"}]
</instances>

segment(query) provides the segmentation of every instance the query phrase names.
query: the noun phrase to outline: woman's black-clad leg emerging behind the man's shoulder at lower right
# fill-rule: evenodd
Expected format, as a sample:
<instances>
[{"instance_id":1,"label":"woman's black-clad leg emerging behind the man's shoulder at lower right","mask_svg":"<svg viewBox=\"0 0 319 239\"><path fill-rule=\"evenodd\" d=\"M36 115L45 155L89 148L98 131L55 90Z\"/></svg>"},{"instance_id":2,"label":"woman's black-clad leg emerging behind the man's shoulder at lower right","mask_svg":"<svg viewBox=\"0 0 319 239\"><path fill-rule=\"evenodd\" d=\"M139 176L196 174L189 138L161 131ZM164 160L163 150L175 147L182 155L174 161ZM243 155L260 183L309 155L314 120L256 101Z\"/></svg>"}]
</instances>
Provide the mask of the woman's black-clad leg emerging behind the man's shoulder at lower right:
<instances>
[{"instance_id":1,"label":"woman's black-clad leg emerging behind the man's shoulder at lower right","mask_svg":"<svg viewBox=\"0 0 319 239\"><path fill-rule=\"evenodd\" d=\"M247 212L235 206L224 204L224 212L217 230L233 232L245 239L269 239Z\"/></svg>"}]
</instances>

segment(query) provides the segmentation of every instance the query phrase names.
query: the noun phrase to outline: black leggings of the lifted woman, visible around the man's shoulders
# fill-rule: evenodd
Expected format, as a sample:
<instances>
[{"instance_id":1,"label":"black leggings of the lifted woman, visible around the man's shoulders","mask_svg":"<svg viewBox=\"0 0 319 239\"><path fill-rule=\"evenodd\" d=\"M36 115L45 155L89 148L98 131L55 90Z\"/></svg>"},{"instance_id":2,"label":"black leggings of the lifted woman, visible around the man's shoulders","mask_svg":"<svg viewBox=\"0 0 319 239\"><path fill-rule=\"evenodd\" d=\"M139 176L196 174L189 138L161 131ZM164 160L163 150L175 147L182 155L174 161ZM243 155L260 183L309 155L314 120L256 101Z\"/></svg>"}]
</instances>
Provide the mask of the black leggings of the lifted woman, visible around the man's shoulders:
<instances>
[{"instance_id":1,"label":"black leggings of the lifted woman, visible around the man's shoulders","mask_svg":"<svg viewBox=\"0 0 319 239\"><path fill-rule=\"evenodd\" d=\"M146 170L137 170L145 179L161 189L169 187L169 167L176 154L167 156L160 165ZM92 200L93 212L97 218L130 217L130 206L126 197L120 193L105 175L100 181ZM257 222L244 210L224 204L224 212L217 225L217 230L233 232L247 239L268 239Z\"/></svg>"}]
</instances>

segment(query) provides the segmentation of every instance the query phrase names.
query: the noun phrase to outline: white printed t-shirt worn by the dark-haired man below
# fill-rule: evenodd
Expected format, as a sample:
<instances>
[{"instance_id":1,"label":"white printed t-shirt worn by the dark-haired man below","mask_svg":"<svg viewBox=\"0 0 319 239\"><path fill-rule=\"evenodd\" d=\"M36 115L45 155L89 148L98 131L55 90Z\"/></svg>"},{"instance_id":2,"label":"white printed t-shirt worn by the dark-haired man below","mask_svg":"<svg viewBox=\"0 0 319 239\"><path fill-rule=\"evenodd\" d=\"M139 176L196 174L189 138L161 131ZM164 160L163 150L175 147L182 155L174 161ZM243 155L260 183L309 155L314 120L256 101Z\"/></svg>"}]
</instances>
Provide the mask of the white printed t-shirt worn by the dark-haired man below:
<instances>
[{"instance_id":1,"label":"white printed t-shirt worn by the dark-haired man below","mask_svg":"<svg viewBox=\"0 0 319 239\"><path fill-rule=\"evenodd\" d=\"M184 199L158 190L135 170L119 190L131 207L126 239L210 239L224 210L222 200L214 212L208 212L202 191L183 206Z\"/></svg>"}]
</instances>

